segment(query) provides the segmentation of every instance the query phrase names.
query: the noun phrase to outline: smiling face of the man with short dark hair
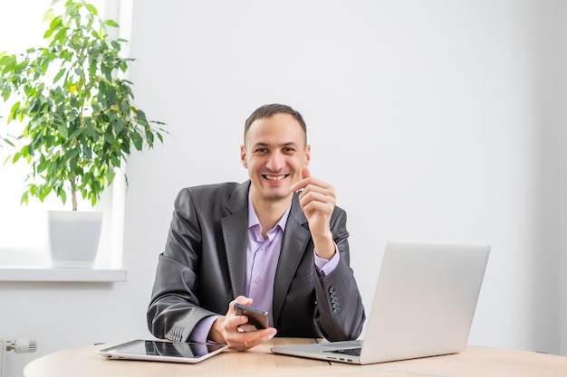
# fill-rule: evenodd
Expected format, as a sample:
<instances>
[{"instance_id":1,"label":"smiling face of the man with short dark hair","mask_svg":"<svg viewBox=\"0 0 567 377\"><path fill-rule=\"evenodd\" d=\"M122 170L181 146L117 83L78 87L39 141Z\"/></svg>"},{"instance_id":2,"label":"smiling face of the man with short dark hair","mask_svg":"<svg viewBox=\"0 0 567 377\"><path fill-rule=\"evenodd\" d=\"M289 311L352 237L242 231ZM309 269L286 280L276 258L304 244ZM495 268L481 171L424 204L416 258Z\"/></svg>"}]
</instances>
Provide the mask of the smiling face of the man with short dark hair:
<instances>
[{"instance_id":1,"label":"smiling face of the man with short dark hair","mask_svg":"<svg viewBox=\"0 0 567 377\"><path fill-rule=\"evenodd\" d=\"M246 133L245 146L240 147L240 157L248 169L256 203L290 198L290 187L301 179L311 158L303 128L286 113L255 120Z\"/></svg>"}]
</instances>

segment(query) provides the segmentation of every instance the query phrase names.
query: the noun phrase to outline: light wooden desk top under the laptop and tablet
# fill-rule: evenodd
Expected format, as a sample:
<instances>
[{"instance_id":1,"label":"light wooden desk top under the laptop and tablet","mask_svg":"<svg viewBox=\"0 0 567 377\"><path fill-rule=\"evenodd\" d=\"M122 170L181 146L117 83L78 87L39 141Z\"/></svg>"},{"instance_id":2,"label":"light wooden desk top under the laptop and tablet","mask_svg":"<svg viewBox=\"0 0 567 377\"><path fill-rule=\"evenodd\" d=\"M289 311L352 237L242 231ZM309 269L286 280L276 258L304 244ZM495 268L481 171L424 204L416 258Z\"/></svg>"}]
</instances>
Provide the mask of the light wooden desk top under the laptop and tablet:
<instances>
[{"instance_id":1,"label":"light wooden desk top under the laptop and tablet","mask_svg":"<svg viewBox=\"0 0 567 377\"><path fill-rule=\"evenodd\" d=\"M245 353L226 351L197 364L107 360L96 351L111 344L75 348L40 357L24 377L289 376L311 377L565 377L567 358L552 354L467 347L463 353L402 362L349 365L276 355L273 345L313 343L312 339L274 338Z\"/></svg>"}]
</instances>

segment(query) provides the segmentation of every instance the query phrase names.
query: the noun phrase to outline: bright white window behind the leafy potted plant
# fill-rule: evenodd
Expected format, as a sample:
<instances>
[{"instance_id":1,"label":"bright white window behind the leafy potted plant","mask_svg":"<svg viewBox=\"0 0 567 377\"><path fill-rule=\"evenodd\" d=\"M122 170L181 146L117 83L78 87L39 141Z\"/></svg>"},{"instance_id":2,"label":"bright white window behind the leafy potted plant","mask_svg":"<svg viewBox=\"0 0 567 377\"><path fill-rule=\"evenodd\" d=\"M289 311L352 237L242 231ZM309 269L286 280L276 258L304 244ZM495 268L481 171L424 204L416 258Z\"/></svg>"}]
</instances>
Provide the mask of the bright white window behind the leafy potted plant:
<instances>
[{"instance_id":1,"label":"bright white window behind the leafy potted plant","mask_svg":"<svg viewBox=\"0 0 567 377\"><path fill-rule=\"evenodd\" d=\"M43 45L46 29L43 14L51 3L52 0L0 3L0 51L20 53L28 47ZM120 5L122 2L91 0L91 3L98 8L102 18L111 18L119 23L120 10L130 6L131 11L131 4ZM123 29L128 30L122 27L120 33L123 33ZM129 35L125 37L128 39ZM0 116L6 117L8 110L9 105L0 100ZM7 131L5 121L5 118L0 118L2 135ZM68 201L63 205L59 198L53 197L45 203L33 198L28 205L20 204L28 166L24 162L4 165L5 157L13 152L10 147L0 147L0 267L49 267L46 211L70 210L71 203ZM125 184L119 175L122 174L117 174L115 184L103 194L95 208L104 212L101 243L95 263L95 267L99 268L121 267ZM91 205L79 203L81 208L91 209Z\"/></svg>"}]
</instances>

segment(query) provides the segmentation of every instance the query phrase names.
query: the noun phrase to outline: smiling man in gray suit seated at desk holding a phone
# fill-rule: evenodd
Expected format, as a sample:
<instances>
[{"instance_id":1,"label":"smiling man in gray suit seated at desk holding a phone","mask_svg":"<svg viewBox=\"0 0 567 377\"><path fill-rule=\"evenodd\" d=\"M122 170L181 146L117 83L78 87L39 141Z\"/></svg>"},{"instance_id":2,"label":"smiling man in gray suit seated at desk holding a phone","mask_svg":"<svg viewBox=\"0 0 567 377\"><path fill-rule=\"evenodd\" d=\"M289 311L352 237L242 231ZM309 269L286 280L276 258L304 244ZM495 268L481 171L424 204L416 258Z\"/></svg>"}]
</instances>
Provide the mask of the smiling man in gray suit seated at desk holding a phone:
<instances>
[{"instance_id":1,"label":"smiling man in gray suit seated at desk holding a phone","mask_svg":"<svg viewBox=\"0 0 567 377\"><path fill-rule=\"evenodd\" d=\"M301 114L257 108L241 161L250 179L181 190L148 309L150 332L245 351L278 336L356 339L364 308L350 268L346 212L312 176ZM268 312L243 331L235 303Z\"/></svg>"}]
</instances>

